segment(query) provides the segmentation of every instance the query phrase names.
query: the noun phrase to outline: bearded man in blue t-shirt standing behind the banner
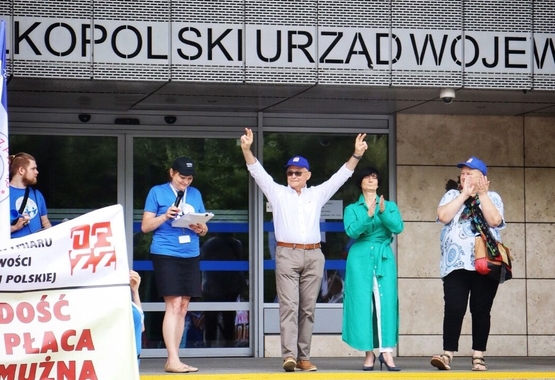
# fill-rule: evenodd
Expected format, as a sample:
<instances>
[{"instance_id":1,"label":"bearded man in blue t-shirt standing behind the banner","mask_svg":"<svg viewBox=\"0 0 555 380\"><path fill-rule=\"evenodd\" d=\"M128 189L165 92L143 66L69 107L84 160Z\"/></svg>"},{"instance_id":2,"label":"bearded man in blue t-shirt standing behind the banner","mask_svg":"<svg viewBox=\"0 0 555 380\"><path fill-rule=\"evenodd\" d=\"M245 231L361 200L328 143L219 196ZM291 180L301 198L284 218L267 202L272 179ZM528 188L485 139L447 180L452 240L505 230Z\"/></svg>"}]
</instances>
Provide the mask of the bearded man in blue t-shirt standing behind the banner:
<instances>
[{"instance_id":1,"label":"bearded man in blue t-shirt standing behind the banner","mask_svg":"<svg viewBox=\"0 0 555 380\"><path fill-rule=\"evenodd\" d=\"M31 186L37 183L37 162L28 153L10 156L10 218L11 237L30 235L52 227L46 202L41 192Z\"/></svg>"}]
</instances>

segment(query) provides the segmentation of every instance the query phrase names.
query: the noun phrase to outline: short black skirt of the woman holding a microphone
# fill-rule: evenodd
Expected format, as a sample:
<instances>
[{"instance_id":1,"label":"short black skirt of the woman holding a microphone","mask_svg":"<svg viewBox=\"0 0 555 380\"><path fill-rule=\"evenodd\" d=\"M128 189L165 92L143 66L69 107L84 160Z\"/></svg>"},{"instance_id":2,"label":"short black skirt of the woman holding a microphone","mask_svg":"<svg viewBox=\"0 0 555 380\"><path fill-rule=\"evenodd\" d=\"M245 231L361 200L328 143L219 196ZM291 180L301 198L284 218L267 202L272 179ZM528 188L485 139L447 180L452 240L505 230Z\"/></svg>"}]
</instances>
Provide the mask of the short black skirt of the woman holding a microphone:
<instances>
[{"instance_id":1,"label":"short black skirt of the woman holding a microphone","mask_svg":"<svg viewBox=\"0 0 555 380\"><path fill-rule=\"evenodd\" d=\"M181 258L151 254L158 296L201 296L200 256Z\"/></svg>"}]
</instances>

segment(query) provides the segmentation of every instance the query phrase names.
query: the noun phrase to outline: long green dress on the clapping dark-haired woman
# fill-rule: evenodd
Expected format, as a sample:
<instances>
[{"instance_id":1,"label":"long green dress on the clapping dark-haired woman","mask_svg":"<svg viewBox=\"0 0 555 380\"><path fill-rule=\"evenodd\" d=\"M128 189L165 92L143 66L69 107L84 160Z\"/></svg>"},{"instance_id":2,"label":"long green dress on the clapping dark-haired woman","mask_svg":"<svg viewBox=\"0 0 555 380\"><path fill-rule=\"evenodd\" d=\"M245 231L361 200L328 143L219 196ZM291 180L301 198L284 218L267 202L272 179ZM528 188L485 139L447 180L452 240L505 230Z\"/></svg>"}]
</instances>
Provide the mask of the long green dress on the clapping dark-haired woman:
<instances>
[{"instance_id":1,"label":"long green dress on the clapping dark-haired woman","mask_svg":"<svg viewBox=\"0 0 555 380\"><path fill-rule=\"evenodd\" d=\"M380 213L379 197L376 198L373 217L368 216L361 195L345 208L343 219L345 232L355 242L347 256L342 338L361 351L395 347L399 339L397 264L391 242L393 234L403 231L404 224L394 202L385 201L385 210ZM372 291L375 280L379 289L377 302Z\"/></svg>"}]
</instances>

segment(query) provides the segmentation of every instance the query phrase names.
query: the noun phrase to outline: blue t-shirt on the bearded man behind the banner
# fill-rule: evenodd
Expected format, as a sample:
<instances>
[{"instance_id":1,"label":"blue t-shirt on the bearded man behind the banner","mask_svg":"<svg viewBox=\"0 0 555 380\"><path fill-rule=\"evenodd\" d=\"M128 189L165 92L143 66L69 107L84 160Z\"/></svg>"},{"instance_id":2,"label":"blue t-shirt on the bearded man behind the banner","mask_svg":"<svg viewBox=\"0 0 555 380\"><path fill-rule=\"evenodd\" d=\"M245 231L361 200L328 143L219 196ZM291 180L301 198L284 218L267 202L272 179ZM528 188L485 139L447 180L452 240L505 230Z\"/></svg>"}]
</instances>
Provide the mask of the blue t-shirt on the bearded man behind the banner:
<instances>
[{"instance_id":1,"label":"blue t-shirt on the bearded man behind the banner","mask_svg":"<svg viewBox=\"0 0 555 380\"><path fill-rule=\"evenodd\" d=\"M25 189L10 186L10 212L13 212L14 214L19 212L19 208L21 207L24 197ZM27 203L25 204L25 209L22 214L29 215L31 219L29 220L29 224L23 226L22 229L12 232L12 239L30 235L42 228L40 217L47 215L47 211L46 202L44 201L44 197L40 191L33 188L29 189L29 198L27 198ZM12 217L10 216L10 222L11 220Z\"/></svg>"}]
</instances>

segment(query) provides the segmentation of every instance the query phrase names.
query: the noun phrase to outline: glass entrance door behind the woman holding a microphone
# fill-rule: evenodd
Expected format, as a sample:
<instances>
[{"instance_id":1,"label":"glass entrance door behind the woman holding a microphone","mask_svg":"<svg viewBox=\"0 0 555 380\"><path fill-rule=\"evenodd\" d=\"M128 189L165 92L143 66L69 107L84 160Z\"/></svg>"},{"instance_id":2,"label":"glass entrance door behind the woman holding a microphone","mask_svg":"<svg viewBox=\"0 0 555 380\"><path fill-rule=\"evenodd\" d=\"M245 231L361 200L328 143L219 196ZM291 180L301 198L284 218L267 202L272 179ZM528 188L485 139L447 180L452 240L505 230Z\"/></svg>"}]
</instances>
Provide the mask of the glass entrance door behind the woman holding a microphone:
<instances>
[{"instance_id":1,"label":"glass entrance door behind the woman holding a microphone","mask_svg":"<svg viewBox=\"0 0 555 380\"><path fill-rule=\"evenodd\" d=\"M251 355L248 172L236 139L136 137L133 151L133 267L142 277L146 328L141 356L166 355L164 302L157 294L149 255L152 233L140 229L144 203L152 186L168 182L173 160L183 156L194 161L191 186L200 190L214 217L201 238L202 297L190 304L180 354Z\"/></svg>"}]
</instances>

